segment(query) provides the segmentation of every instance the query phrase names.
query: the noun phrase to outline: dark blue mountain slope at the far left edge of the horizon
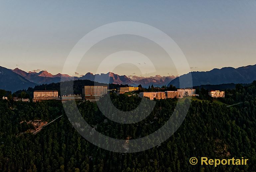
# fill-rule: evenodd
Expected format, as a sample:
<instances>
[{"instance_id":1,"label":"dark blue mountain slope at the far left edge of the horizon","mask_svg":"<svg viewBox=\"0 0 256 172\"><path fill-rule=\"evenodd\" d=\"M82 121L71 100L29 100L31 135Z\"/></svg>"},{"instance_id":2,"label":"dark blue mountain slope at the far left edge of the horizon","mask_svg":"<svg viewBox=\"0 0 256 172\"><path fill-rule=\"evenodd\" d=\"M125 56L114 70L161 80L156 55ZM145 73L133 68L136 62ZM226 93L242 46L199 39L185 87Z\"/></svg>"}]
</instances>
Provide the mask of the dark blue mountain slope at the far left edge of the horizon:
<instances>
[{"instance_id":1,"label":"dark blue mountain slope at the far left edge of the horizon","mask_svg":"<svg viewBox=\"0 0 256 172\"><path fill-rule=\"evenodd\" d=\"M35 87L36 85L36 83L27 80L11 69L0 66L0 89L14 92L28 87Z\"/></svg>"}]
</instances>

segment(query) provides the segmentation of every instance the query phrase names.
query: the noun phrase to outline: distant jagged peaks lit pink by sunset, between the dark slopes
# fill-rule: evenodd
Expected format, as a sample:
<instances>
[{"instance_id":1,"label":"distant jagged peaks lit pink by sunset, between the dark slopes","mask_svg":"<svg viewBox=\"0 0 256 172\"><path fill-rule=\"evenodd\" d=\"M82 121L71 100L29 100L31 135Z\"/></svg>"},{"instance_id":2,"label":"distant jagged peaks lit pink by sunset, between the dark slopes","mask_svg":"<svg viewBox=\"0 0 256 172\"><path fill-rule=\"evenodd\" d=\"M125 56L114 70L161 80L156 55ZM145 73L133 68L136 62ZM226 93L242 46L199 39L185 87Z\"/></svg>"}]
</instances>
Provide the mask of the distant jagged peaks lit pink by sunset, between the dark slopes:
<instances>
[{"instance_id":1,"label":"distant jagged peaks lit pink by sunset, between the dark slopes","mask_svg":"<svg viewBox=\"0 0 256 172\"><path fill-rule=\"evenodd\" d=\"M12 70L12 69L9 69ZM67 74L58 73L53 75L45 70L40 72L30 71L26 72L19 68L15 68L12 70L16 74L24 77L28 81L31 81L36 84L50 84L50 83L57 83L62 80L77 80L77 79L88 79L91 81L97 81L100 83L112 83L112 84L128 84L131 86L138 86L141 84L143 87L151 86L163 86L167 85L171 80L175 78L175 76L151 76L151 77L141 77L141 76L126 76L126 75L118 75L113 72L108 72L106 74L93 74L93 73L86 73L80 77L69 76ZM1 89L1 88L0 88Z\"/></svg>"}]
</instances>

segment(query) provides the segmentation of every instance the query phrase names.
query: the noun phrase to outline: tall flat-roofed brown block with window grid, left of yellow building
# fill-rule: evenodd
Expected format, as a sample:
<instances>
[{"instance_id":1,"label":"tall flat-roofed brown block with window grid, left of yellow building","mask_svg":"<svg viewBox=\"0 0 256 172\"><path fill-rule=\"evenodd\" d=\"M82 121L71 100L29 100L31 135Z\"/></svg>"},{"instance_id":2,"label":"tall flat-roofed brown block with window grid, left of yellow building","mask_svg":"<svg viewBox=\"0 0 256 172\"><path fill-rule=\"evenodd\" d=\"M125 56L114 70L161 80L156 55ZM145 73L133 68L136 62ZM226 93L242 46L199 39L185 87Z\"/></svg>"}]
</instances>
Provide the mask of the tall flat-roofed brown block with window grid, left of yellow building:
<instances>
[{"instance_id":1,"label":"tall flat-roofed brown block with window grid, left of yellow building","mask_svg":"<svg viewBox=\"0 0 256 172\"><path fill-rule=\"evenodd\" d=\"M91 96L102 96L107 94L107 86L83 86L82 96L91 97Z\"/></svg>"}]
</instances>

